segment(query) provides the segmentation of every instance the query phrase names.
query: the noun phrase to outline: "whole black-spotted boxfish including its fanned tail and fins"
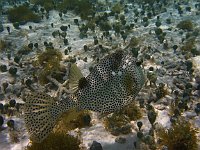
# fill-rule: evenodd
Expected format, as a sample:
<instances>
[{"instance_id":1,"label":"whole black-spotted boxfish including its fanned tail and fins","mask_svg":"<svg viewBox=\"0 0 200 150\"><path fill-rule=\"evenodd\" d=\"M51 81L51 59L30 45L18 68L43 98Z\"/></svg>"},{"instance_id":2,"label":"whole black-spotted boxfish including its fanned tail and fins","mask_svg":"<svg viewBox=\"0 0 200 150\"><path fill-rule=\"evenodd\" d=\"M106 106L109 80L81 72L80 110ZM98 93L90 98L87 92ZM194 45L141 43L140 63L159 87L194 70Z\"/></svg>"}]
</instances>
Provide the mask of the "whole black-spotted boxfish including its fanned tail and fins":
<instances>
[{"instance_id":1,"label":"whole black-spotted boxfish including its fanned tail and fins","mask_svg":"<svg viewBox=\"0 0 200 150\"><path fill-rule=\"evenodd\" d=\"M103 58L87 77L74 69L69 80L74 93L63 100L45 93L24 96L24 119L31 140L41 142L45 139L61 114L71 108L100 113L123 108L133 101L145 78L136 58L117 51Z\"/></svg>"}]
</instances>

